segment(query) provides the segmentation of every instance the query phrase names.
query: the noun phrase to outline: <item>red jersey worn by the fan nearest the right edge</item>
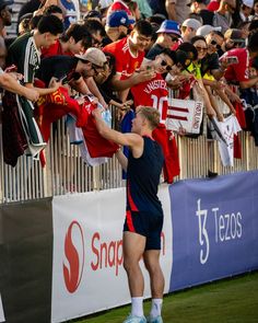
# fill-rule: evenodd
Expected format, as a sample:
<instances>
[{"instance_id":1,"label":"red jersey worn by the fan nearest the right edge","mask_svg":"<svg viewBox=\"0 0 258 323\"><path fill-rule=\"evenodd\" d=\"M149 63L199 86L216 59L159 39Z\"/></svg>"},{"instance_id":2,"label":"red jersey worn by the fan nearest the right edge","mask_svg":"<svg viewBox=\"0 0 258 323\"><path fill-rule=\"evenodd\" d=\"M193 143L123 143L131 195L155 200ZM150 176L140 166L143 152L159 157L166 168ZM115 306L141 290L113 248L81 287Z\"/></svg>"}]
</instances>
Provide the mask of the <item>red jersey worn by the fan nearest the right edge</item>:
<instances>
[{"instance_id":1,"label":"red jersey worn by the fan nearest the right edge","mask_svg":"<svg viewBox=\"0 0 258 323\"><path fill-rule=\"evenodd\" d=\"M225 71L225 79L228 82L243 82L249 80L249 53L246 48L234 48L226 51L222 58L236 56L238 58L237 64L232 64Z\"/></svg>"}]
</instances>

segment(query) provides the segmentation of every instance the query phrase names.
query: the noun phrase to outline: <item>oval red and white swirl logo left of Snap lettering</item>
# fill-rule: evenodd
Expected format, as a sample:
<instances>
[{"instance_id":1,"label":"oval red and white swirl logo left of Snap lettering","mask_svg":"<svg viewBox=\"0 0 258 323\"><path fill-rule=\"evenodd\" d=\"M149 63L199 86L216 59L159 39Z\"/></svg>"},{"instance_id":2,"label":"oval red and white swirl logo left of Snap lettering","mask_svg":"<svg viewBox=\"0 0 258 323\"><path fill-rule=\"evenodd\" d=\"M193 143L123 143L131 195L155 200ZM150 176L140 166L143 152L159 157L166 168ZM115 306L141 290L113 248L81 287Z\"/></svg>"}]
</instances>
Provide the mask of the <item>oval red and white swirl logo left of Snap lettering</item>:
<instances>
[{"instance_id":1,"label":"oval red and white swirl logo left of Snap lettering","mask_svg":"<svg viewBox=\"0 0 258 323\"><path fill-rule=\"evenodd\" d=\"M82 279L84 268L84 237L78 221L72 221L64 240L66 259L62 263L63 278L67 290L74 292Z\"/></svg>"}]
</instances>

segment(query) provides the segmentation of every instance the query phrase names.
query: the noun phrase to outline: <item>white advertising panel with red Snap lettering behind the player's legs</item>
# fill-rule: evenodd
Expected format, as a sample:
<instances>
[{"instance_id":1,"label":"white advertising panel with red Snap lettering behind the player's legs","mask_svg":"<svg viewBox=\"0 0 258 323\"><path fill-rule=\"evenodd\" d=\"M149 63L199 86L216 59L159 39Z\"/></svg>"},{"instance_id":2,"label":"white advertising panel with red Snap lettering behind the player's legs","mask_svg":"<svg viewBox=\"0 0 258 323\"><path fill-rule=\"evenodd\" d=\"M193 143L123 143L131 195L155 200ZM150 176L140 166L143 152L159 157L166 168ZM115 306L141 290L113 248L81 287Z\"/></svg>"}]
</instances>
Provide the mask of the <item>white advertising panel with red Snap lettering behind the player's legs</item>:
<instances>
[{"instance_id":1,"label":"white advertising panel with red Snap lettering behind the player's legs","mask_svg":"<svg viewBox=\"0 0 258 323\"><path fill-rule=\"evenodd\" d=\"M167 185L161 186L160 197L165 214L161 264L167 292L172 273L172 219ZM125 209L125 188L54 198L51 322L62 322L130 302L122 267ZM144 297L150 297L145 269L144 279Z\"/></svg>"}]
</instances>

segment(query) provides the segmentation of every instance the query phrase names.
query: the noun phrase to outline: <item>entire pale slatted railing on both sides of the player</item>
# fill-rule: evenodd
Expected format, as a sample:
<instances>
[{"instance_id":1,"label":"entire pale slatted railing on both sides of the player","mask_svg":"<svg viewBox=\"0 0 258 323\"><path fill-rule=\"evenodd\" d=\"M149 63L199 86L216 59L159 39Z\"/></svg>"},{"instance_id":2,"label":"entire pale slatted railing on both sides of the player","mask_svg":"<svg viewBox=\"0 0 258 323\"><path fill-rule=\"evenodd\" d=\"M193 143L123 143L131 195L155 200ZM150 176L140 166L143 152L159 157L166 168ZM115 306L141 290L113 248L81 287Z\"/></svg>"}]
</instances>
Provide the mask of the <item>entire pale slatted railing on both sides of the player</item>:
<instances>
[{"instance_id":1,"label":"entire pale slatted railing on both sides of the player","mask_svg":"<svg viewBox=\"0 0 258 323\"><path fill-rule=\"evenodd\" d=\"M208 170L228 174L258 169L257 148L249 132L241 132L242 159L234 160L234 168L222 166L218 142L177 137L180 175L175 180L204 177ZM70 145L64 119L55 125L45 150L46 166L39 160L21 157L15 168L3 163L0 140L0 203L43 198L67 193L121 187L121 169L115 158L99 166L86 165L78 146Z\"/></svg>"}]
</instances>

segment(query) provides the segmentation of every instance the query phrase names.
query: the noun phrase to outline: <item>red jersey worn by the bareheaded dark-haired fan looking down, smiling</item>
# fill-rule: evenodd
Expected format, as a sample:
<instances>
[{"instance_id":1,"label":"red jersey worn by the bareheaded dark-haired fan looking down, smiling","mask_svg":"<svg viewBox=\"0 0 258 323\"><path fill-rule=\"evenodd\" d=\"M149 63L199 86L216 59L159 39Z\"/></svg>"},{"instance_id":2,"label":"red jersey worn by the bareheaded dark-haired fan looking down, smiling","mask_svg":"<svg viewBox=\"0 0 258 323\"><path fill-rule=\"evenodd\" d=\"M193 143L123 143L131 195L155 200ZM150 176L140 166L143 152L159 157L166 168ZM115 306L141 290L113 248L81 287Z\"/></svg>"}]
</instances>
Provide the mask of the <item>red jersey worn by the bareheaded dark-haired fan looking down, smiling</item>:
<instances>
[{"instance_id":1,"label":"red jersey worn by the bareheaded dark-haired fan looking down, smiling","mask_svg":"<svg viewBox=\"0 0 258 323\"><path fill-rule=\"evenodd\" d=\"M144 58L144 51L138 51L137 56L132 55L129 47L129 37L108 44L103 50L115 56L116 72L121 76L121 80L131 77L140 68Z\"/></svg>"}]
</instances>

